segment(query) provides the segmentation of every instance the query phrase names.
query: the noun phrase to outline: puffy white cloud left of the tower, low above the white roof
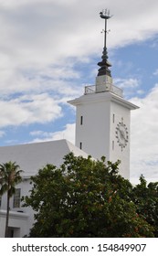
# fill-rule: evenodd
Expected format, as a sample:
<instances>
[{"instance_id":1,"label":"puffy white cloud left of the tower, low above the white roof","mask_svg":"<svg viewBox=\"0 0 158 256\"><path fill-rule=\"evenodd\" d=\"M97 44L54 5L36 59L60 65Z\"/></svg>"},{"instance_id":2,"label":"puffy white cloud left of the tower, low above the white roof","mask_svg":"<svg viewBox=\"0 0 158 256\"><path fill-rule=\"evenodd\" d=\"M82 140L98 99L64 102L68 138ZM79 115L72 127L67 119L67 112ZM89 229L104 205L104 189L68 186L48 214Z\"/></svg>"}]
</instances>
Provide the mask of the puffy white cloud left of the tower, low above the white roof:
<instances>
[{"instance_id":1,"label":"puffy white cloud left of the tower, low above the white roof","mask_svg":"<svg viewBox=\"0 0 158 256\"><path fill-rule=\"evenodd\" d=\"M47 123L62 116L61 107L46 93L21 96L17 99L0 101L0 127L29 123Z\"/></svg>"}]
</instances>

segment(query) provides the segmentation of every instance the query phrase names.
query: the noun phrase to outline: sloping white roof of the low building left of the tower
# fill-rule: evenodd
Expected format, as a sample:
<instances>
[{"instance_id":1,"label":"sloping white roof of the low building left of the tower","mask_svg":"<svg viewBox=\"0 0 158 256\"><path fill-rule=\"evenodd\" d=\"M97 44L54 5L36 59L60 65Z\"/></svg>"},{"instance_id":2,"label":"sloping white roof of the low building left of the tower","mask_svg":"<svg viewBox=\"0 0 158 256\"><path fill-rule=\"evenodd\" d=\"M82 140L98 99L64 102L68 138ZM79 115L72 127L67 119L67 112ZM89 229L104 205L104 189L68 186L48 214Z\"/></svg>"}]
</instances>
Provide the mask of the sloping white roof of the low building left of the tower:
<instances>
[{"instance_id":1,"label":"sloping white roof of the low building left of the tower","mask_svg":"<svg viewBox=\"0 0 158 256\"><path fill-rule=\"evenodd\" d=\"M16 162L24 170L23 176L33 176L37 174L39 168L47 164L61 165L63 157L70 152L73 152L76 156L88 156L67 140L58 140L35 144L0 146L0 164L8 161Z\"/></svg>"}]
</instances>

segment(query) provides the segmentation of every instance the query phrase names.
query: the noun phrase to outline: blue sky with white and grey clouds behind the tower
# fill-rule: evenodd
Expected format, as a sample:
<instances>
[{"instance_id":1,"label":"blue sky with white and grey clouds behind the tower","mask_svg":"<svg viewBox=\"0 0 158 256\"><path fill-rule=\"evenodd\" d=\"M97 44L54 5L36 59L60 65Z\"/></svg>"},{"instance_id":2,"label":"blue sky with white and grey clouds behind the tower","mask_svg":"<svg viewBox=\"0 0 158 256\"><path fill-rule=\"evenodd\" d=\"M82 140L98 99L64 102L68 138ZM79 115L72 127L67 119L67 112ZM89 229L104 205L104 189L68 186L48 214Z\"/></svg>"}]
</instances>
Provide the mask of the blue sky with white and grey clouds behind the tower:
<instances>
[{"instance_id":1,"label":"blue sky with white and grey clouds behind the tower","mask_svg":"<svg viewBox=\"0 0 158 256\"><path fill-rule=\"evenodd\" d=\"M132 112L132 181L158 181L157 0L0 0L0 145L74 143L67 101L94 84L104 8L113 15L113 80L140 106Z\"/></svg>"}]
</instances>

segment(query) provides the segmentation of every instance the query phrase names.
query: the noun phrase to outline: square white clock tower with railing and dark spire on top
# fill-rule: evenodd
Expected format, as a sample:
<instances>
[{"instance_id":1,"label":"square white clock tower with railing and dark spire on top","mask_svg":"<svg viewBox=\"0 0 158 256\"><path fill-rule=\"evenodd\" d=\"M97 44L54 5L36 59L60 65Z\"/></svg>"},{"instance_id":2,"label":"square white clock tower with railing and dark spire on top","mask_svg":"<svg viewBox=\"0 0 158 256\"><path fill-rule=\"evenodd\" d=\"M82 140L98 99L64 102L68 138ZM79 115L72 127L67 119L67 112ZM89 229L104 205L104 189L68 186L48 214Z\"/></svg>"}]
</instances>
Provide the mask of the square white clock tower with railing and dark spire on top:
<instances>
[{"instance_id":1,"label":"square white clock tower with railing and dark spire on top","mask_svg":"<svg viewBox=\"0 0 158 256\"><path fill-rule=\"evenodd\" d=\"M106 47L109 11L100 12L105 20L104 48L95 85L86 86L84 95L68 101L76 106L76 145L94 158L106 156L121 160L120 174L130 178L131 111L138 107L123 98L123 91L112 83L111 63Z\"/></svg>"}]
</instances>

